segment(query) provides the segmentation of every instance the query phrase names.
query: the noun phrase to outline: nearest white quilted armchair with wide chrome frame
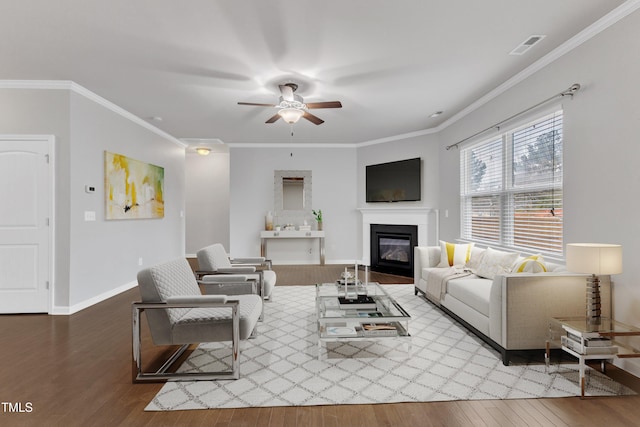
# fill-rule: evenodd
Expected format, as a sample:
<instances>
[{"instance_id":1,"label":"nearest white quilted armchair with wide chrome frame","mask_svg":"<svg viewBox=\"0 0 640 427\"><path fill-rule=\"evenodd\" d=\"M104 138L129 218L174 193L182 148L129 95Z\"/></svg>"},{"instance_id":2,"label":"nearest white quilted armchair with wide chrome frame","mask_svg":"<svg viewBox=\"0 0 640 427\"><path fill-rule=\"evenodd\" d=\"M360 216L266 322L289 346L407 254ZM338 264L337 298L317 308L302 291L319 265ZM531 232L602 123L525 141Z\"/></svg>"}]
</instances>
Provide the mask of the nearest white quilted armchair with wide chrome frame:
<instances>
[{"instance_id":1,"label":"nearest white quilted armchair with wide chrome frame","mask_svg":"<svg viewBox=\"0 0 640 427\"><path fill-rule=\"evenodd\" d=\"M239 341L255 334L262 299L249 295L202 295L186 259L169 261L138 273L141 302L132 304L133 382L237 379ZM156 372L144 372L140 314L145 311L155 345L180 345ZM231 341L231 369L175 373L168 369L193 343Z\"/></svg>"}]
</instances>

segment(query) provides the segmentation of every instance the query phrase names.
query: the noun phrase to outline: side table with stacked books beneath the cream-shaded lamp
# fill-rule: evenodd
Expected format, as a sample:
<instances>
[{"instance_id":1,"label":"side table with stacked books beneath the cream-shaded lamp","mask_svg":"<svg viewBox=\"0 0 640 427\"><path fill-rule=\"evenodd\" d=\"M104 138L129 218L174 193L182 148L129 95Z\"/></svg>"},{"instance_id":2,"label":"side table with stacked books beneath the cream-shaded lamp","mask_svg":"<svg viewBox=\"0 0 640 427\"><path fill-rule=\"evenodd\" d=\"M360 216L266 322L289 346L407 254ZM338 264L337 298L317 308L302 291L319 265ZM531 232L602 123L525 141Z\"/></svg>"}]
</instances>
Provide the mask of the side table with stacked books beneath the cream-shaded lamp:
<instances>
[{"instance_id":1,"label":"side table with stacked books beneath the cream-shaded lamp","mask_svg":"<svg viewBox=\"0 0 640 427\"><path fill-rule=\"evenodd\" d=\"M545 352L547 367L550 361L552 343L560 341L563 351L578 359L580 368L580 397L584 398L585 370L587 360L600 360L604 372L605 362L614 358L640 357L638 347L621 340L623 337L640 337L640 328L626 325L608 317L593 323L585 316L553 317L549 321L549 338ZM590 341L609 339L610 346L591 346Z\"/></svg>"}]
</instances>

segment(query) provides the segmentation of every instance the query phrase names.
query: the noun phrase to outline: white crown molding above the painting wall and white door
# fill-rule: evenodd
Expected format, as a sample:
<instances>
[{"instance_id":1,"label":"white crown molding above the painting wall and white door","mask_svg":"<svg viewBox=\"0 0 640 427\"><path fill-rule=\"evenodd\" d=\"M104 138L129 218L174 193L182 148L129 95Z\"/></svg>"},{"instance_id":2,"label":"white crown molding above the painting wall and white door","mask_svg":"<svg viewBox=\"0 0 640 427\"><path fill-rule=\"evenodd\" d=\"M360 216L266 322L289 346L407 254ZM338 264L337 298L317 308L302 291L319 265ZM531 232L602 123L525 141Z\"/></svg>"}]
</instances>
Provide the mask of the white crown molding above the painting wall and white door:
<instances>
[{"instance_id":1,"label":"white crown molding above the painting wall and white door","mask_svg":"<svg viewBox=\"0 0 640 427\"><path fill-rule=\"evenodd\" d=\"M141 119L140 117L128 112L124 108L119 107L113 102L101 97L95 92L91 92L89 89L70 80L0 80L0 89L69 90L77 93L78 95L84 96L85 98L101 105L107 110L110 110L124 117L125 119L130 120L139 126L142 126L147 130L150 130L156 135L159 135L162 138L165 138L166 140L173 142L174 144L177 144L182 148L185 148L187 146L187 144L180 141L178 138L169 135L165 131L153 126L146 120Z\"/></svg>"}]
</instances>

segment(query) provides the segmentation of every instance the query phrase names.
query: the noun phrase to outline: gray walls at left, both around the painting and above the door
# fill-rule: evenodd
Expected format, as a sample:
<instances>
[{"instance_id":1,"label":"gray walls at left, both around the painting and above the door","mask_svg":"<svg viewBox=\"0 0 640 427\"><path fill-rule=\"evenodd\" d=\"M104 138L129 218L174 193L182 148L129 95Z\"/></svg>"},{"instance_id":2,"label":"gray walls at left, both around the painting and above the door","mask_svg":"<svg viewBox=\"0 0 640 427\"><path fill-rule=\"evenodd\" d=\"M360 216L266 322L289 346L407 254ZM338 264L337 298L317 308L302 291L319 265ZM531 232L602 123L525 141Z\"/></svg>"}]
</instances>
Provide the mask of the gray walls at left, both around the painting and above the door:
<instances>
[{"instance_id":1,"label":"gray walls at left, both around the painting and above the door","mask_svg":"<svg viewBox=\"0 0 640 427\"><path fill-rule=\"evenodd\" d=\"M148 266L184 255L184 149L172 138L69 89L1 89L0 133L55 136L54 312L133 286L139 258ZM104 220L105 150L165 168L165 218ZM85 211L97 220L85 222Z\"/></svg>"}]
</instances>

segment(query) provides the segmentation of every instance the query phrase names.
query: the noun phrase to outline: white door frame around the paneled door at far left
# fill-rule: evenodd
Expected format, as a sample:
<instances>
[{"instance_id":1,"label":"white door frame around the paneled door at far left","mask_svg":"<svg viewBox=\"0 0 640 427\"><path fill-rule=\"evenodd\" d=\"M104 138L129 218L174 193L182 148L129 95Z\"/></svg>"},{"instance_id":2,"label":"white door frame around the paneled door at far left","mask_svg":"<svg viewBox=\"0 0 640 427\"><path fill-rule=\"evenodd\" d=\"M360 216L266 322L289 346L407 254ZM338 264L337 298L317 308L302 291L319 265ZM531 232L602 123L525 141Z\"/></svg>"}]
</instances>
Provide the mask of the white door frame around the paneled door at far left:
<instances>
[{"instance_id":1,"label":"white door frame around the paneled door at far left","mask_svg":"<svg viewBox=\"0 0 640 427\"><path fill-rule=\"evenodd\" d=\"M49 270L49 303L47 312L48 314L54 313L54 301L55 301L55 136L54 135L10 135L0 134L0 143L4 141L42 141L47 143L47 149L49 151L49 170L47 171L49 180L49 206L47 207L47 217L49 218L48 234L49 245L47 252L49 254L47 259Z\"/></svg>"}]
</instances>

